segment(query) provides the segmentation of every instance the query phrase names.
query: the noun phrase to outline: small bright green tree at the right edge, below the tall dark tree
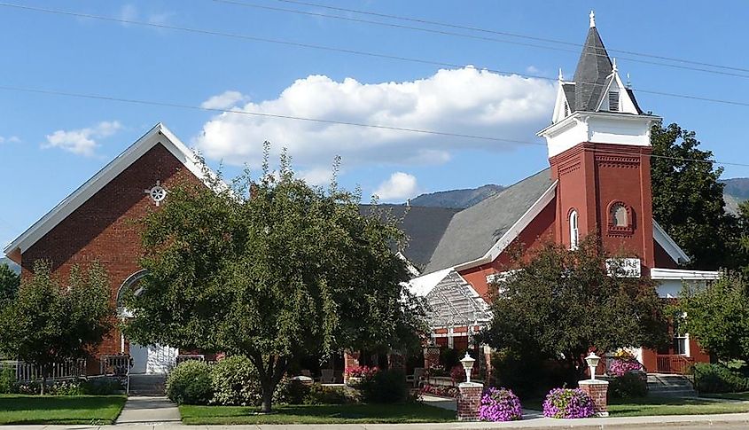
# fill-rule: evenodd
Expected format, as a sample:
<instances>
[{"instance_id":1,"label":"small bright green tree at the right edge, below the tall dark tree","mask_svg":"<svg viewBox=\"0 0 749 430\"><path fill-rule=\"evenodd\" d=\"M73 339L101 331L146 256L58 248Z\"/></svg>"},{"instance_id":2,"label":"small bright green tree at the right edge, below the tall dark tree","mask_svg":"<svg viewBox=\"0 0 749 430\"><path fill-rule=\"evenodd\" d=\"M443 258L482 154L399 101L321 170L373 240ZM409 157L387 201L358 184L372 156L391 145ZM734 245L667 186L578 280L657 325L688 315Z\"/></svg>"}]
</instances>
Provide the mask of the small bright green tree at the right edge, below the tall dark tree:
<instances>
[{"instance_id":1,"label":"small bright green tree at the right edge, below the tall dark tree","mask_svg":"<svg viewBox=\"0 0 749 430\"><path fill-rule=\"evenodd\" d=\"M749 360L749 292L740 277L727 274L706 287L685 284L675 309L700 347L722 360Z\"/></svg>"}]
</instances>

